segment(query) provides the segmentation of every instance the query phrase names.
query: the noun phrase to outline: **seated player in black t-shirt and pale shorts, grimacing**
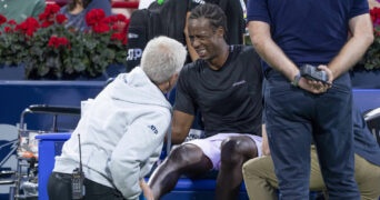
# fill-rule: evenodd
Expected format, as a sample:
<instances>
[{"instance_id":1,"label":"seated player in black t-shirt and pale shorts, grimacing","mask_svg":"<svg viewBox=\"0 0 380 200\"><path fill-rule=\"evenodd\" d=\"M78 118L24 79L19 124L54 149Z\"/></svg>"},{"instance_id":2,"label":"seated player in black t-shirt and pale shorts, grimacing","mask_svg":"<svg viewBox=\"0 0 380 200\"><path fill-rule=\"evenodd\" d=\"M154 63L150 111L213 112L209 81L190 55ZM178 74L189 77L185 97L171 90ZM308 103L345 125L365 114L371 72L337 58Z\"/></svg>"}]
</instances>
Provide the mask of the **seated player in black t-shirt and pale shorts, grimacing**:
<instances>
[{"instance_id":1,"label":"seated player in black t-shirt and pale shorts, grimacing","mask_svg":"<svg viewBox=\"0 0 380 200\"><path fill-rule=\"evenodd\" d=\"M226 16L216 4L196 7L188 24L191 46L200 59L180 73L172 141L184 140L197 110L206 138L173 148L148 184L159 199L174 188L181 174L196 177L216 169L216 199L236 199L242 163L261 154L261 137L256 136L261 134L262 112L259 56L252 47L227 44Z\"/></svg>"}]
</instances>

